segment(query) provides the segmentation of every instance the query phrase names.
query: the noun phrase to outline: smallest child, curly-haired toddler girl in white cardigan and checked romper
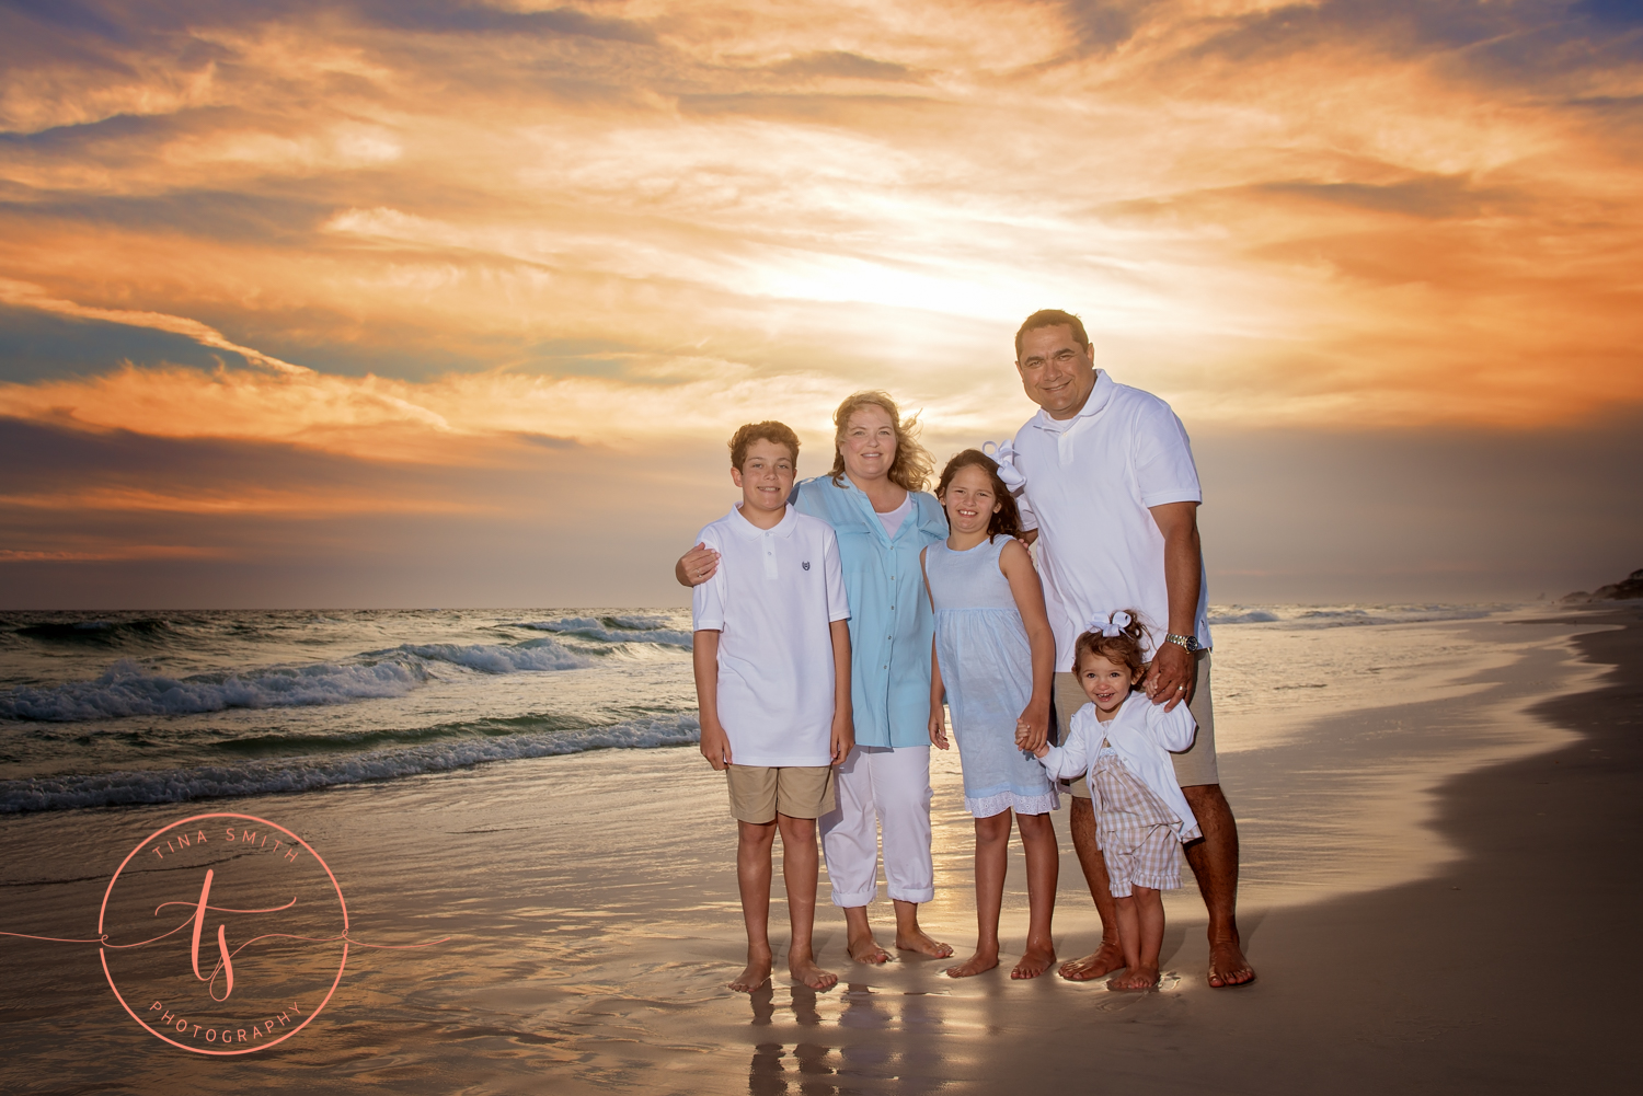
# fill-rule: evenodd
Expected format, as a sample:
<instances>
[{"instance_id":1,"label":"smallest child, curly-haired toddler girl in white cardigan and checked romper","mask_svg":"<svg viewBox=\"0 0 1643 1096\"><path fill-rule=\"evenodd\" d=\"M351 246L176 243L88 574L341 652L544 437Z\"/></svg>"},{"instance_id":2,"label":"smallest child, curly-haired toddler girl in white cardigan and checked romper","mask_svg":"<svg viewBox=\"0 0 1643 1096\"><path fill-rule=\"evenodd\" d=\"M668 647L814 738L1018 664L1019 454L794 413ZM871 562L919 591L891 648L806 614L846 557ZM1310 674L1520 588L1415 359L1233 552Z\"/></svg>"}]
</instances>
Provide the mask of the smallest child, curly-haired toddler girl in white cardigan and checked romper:
<instances>
[{"instance_id":1,"label":"smallest child, curly-haired toddler girl in white cardigan and checked romper","mask_svg":"<svg viewBox=\"0 0 1643 1096\"><path fill-rule=\"evenodd\" d=\"M1158 984L1163 943L1160 891L1181 886L1176 850L1201 836L1175 782L1167 751L1193 744L1198 725L1186 705L1165 711L1132 692L1144 674L1142 624L1134 611L1094 619L1078 638L1073 669L1089 703L1073 713L1065 746L1037 746L1052 777L1084 776L1096 807L1096 843L1117 900L1119 946L1125 969L1107 989ZM1027 746L1027 736L1017 741Z\"/></svg>"}]
</instances>

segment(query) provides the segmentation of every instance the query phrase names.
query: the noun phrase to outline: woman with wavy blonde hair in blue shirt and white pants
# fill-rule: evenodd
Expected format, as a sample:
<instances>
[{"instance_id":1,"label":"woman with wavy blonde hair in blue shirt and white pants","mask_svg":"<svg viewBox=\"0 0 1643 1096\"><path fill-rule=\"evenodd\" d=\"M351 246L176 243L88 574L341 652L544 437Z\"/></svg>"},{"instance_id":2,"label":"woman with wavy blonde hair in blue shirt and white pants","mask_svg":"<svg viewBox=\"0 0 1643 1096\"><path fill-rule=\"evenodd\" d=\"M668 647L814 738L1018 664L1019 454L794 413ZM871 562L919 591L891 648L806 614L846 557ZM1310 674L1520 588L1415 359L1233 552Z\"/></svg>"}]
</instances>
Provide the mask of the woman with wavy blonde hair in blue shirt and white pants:
<instances>
[{"instance_id":1,"label":"woman with wavy blonde hair in blue shirt and white pants","mask_svg":"<svg viewBox=\"0 0 1643 1096\"><path fill-rule=\"evenodd\" d=\"M884 963L868 904L877 894L879 828L884 877L895 905L895 946L935 958L953 948L918 927L935 897L930 858L930 644L935 621L920 587L918 554L946 537L946 518L923 485L930 454L881 391L849 396L833 412L833 472L803 480L792 504L838 534L849 596L851 700L856 748L838 771L838 808L822 817L822 851L833 904L849 925L849 956ZM713 577L703 546L675 567L682 585Z\"/></svg>"}]
</instances>

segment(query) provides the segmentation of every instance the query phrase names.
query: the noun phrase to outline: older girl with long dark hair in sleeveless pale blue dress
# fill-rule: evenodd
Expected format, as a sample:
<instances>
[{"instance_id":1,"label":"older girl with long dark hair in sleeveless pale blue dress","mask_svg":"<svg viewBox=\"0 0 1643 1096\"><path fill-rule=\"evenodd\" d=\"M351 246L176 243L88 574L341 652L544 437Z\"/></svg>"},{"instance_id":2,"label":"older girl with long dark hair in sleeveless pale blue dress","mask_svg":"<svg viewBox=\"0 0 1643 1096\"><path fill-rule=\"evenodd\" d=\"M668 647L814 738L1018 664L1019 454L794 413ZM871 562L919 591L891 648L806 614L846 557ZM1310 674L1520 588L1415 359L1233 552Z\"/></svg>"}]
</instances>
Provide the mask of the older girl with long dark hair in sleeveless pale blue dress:
<instances>
[{"instance_id":1,"label":"older girl with long dark hair in sleeveless pale blue dress","mask_svg":"<svg viewBox=\"0 0 1643 1096\"><path fill-rule=\"evenodd\" d=\"M1030 749L1050 728L1055 636L1032 557L1015 534L1015 500L999 467L966 449L941 472L937 496L948 537L925 547L925 590L935 610L930 672L930 741L946 749L941 700L953 710L953 733L964 767L964 807L976 817L976 953L948 968L953 978L999 965L999 907L1010 840L1010 812L1027 848L1030 928L1010 978L1037 978L1055 963L1060 850L1052 810L1055 785ZM1017 746L1017 739L1020 746Z\"/></svg>"}]
</instances>

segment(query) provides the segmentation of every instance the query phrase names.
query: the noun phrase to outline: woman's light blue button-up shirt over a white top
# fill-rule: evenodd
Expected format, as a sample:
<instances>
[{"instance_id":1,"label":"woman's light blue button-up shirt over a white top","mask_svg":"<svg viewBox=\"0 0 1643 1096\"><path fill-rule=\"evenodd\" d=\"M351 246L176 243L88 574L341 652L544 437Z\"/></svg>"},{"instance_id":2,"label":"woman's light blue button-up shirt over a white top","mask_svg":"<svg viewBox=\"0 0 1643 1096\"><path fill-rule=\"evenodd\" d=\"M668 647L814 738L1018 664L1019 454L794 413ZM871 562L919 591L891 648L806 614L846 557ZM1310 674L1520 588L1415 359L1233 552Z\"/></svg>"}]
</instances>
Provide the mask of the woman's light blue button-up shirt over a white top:
<instances>
[{"instance_id":1,"label":"woman's light blue button-up shirt over a white top","mask_svg":"<svg viewBox=\"0 0 1643 1096\"><path fill-rule=\"evenodd\" d=\"M946 539L946 514L928 491L891 537L866 493L841 477L803 480L792 503L833 526L849 596L851 705L861 746L930 743L930 641L935 615L918 554Z\"/></svg>"}]
</instances>

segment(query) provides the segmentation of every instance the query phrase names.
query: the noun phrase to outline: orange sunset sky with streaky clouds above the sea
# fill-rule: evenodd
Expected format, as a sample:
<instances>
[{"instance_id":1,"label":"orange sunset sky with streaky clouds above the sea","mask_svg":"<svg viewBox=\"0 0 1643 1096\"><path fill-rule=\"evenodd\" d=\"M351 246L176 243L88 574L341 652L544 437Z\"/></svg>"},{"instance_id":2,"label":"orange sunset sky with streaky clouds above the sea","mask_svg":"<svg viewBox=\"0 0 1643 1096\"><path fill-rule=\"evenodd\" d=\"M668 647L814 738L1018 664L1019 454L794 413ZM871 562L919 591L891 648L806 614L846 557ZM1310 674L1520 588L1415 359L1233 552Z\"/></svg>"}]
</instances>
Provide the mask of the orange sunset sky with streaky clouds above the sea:
<instances>
[{"instance_id":1,"label":"orange sunset sky with streaky clouds above the sea","mask_svg":"<svg viewBox=\"0 0 1643 1096\"><path fill-rule=\"evenodd\" d=\"M1627 0L0 0L0 608L679 605L780 417L1083 315L1211 600L1643 567Z\"/></svg>"}]
</instances>

